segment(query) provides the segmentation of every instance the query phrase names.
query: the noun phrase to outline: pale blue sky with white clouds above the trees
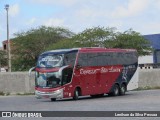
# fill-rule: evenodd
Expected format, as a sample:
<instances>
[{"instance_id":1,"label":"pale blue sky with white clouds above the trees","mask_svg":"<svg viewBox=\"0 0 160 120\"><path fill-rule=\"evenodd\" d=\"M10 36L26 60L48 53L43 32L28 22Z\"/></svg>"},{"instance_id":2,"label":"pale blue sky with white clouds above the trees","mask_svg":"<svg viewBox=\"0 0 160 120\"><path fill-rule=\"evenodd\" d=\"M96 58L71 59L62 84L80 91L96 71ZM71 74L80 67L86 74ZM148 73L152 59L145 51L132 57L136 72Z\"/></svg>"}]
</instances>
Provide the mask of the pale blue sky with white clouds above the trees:
<instances>
[{"instance_id":1,"label":"pale blue sky with white clouds above the trees","mask_svg":"<svg viewBox=\"0 0 160 120\"><path fill-rule=\"evenodd\" d=\"M10 38L41 25L75 33L97 26L160 33L160 0L0 0L0 46L7 39L6 4Z\"/></svg>"}]
</instances>

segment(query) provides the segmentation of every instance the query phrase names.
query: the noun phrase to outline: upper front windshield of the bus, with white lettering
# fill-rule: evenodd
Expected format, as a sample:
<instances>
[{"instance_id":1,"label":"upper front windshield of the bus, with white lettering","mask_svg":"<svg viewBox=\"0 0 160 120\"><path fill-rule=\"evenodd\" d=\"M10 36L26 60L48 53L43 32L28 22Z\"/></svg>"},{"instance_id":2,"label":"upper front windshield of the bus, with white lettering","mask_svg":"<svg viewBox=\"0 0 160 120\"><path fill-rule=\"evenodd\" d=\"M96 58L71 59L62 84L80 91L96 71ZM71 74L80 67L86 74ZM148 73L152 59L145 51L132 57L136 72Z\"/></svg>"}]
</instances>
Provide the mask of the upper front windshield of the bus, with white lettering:
<instances>
[{"instance_id":1,"label":"upper front windshield of the bus, with white lettering","mask_svg":"<svg viewBox=\"0 0 160 120\"><path fill-rule=\"evenodd\" d=\"M63 54L41 55L38 59L37 67L61 67L63 64L63 56Z\"/></svg>"}]
</instances>

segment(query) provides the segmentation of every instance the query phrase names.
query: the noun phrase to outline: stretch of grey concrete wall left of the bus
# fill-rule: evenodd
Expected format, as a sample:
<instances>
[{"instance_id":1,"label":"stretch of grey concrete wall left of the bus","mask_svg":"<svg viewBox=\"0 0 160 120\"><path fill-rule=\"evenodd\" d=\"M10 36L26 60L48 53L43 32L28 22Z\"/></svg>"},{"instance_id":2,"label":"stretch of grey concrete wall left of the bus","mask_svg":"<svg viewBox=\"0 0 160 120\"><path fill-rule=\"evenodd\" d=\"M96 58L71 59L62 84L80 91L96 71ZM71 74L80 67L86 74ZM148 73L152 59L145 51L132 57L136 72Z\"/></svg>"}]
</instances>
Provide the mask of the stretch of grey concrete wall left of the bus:
<instances>
[{"instance_id":1,"label":"stretch of grey concrete wall left of the bus","mask_svg":"<svg viewBox=\"0 0 160 120\"><path fill-rule=\"evenodd\" d=\"M34 92L34 73L28 72L0 73L0 91L9 93Z\"/></svg>"}]
</instances>

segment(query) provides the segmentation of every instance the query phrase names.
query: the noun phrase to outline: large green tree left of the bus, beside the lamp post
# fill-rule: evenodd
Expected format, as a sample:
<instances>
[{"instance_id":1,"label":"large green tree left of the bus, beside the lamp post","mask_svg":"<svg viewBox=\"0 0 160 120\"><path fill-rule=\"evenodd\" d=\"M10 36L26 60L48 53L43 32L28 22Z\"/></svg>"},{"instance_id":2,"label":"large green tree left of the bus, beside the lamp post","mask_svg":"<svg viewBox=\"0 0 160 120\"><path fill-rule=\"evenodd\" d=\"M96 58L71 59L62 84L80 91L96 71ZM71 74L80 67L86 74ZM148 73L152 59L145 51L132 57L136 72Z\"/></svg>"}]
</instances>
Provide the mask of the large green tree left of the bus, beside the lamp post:
<instances>
[{"instance_id":1,"label":"large green tree left of the bus, beside the lamp post","mask_svg":"<svg viewBox=\"0 0 160 120\"><path fill-rule=\"evenodd\" d=\"M24 71L35 66L39 54L46 51L51 44L73 35L68 29L45 26L16 33L12 40L13 71Z\"/></svg>"}]
</instances>

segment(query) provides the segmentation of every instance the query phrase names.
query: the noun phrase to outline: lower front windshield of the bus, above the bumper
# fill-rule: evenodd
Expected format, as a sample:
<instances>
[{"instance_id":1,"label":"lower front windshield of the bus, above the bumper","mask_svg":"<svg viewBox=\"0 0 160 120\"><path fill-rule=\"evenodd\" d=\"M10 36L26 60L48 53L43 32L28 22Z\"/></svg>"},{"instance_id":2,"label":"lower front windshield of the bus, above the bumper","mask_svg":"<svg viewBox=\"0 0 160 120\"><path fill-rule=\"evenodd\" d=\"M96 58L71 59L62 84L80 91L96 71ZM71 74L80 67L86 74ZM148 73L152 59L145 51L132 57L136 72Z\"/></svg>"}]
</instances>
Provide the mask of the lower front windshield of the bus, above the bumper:
<instances>
[{"instance_id":1,"label":"lower front windshield of the bus, above the bumper","mask_svg":"<svg viewBox=\"0 0 160 120\"><path fill-rule=\"evenodd\" d=\"M36 86L42 88L55 88L61 86L58 72L40 73L36 72Z\"/></svg>"}]
</instances>

